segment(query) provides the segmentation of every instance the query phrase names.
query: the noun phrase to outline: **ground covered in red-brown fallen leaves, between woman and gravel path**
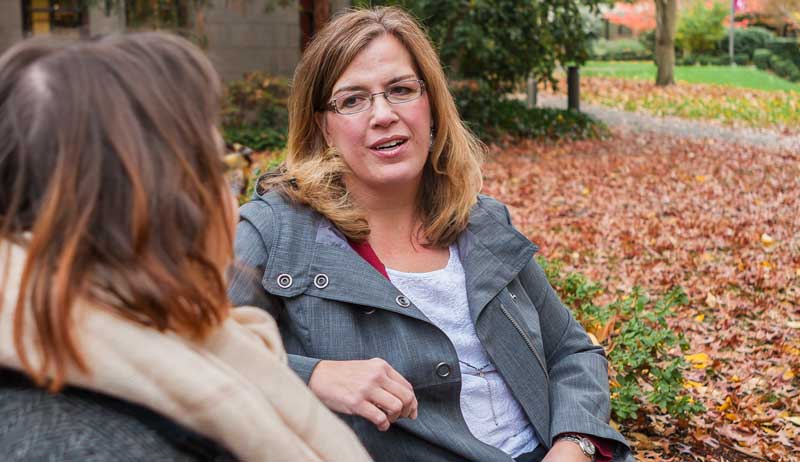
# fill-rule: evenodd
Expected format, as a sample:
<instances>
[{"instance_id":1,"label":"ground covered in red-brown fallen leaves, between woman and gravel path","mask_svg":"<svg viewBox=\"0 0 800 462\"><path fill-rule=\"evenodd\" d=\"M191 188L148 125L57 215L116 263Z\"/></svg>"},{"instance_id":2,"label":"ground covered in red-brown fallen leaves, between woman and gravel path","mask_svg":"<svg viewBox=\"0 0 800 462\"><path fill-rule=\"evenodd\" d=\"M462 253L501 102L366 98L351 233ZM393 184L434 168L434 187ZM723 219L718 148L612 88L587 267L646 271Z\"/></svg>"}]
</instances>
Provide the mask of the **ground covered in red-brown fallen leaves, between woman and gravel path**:
<instances>
[{"instance_id":1,"label":"ground covered in red-brown fallen leaves, between woman and gravel path","mask_svg":"<svg viewBox=\"0 0 800 462\"><path fill-rule=\"evenodd\" d=\"M495 148L484 190L613 290L683 286L708 411L622 426L639 460L800 460L800 153L656 134Z\"/></svg>"}]
</instances>

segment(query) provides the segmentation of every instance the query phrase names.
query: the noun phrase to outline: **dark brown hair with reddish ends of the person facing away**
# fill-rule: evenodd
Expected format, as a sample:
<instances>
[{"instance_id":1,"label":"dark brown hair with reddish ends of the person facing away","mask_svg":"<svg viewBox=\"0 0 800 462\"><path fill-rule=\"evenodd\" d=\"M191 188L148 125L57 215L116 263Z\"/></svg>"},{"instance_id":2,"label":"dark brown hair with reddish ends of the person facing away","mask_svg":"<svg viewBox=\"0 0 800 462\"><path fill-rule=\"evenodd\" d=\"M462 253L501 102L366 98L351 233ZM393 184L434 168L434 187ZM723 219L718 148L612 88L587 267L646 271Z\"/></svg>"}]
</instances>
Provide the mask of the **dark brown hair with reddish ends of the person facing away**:
<instances>
[{"instance_id":1,"label":"dark brown hair with reddish ends of the person facing away","mask_svg":"<svg viewBox=\"0 0 800 462\"><path fill-rule=\"evenodd\" d=\"M224 319L220 91L197 48L161 33L26 41L0 57L0 239L27 250L14 344L39 385L60 388L68 361L88 371L78 299L188 337Z\"/></svg>"}]
</instances>

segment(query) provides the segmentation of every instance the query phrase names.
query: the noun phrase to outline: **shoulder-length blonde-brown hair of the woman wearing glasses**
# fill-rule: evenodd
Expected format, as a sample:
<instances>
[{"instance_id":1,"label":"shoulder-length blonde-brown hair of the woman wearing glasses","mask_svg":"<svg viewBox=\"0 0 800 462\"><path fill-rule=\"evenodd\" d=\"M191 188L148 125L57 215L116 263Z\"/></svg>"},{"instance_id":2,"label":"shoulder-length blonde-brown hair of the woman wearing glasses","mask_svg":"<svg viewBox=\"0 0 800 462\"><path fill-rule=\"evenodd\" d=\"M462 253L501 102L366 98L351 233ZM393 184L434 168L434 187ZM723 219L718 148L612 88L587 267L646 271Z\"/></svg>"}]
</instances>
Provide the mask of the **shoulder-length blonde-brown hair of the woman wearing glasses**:
<instances>
[{"instance_id":1,"label":"shoulder-length blonde-brown hair of the woman wearing glasses","mask_svg":"<svg viewBox=\"0 0 800 462\"><path fill-rule=\"evenodd\" d=\"M334 84L356 55L385 34L405 46L425 81L434 137L418 197L420 232L427 245L447 246L469 221L481 188L485 147L461 122L439 58L422 27L398 8L348 11L311 42L294 73L284 170L263 178L259 188L278 187L290 199L326 216L348 238L366 239L369 225L343 183L347 166L327 146L315 115L326 110Z\"/></svg>"}]
</instances>

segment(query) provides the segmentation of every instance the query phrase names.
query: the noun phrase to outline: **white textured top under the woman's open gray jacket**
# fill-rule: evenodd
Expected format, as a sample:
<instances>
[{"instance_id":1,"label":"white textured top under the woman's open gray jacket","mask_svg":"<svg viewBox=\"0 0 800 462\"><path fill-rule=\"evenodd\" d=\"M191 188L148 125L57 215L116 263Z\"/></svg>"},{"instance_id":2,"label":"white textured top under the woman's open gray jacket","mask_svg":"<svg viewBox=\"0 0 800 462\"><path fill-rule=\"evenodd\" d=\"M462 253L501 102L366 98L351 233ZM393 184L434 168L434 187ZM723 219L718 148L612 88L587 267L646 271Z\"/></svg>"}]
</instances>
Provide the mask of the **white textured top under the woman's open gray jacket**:
<instances>
[{"instance_id":1,"label":"white textured top under the woman's open gray jacket","mask_svg":"<svg viewBox=\"0 0 800 462\"><path fill-rule=\"evenodd\" d=\"M476 438L517 457L539 445L522 407L489 360L469 314L464 268L450 246L443 269L404 273L386 268L392 283L453 342L461 365L461 413Z\"/></svg>"}]
</instances>

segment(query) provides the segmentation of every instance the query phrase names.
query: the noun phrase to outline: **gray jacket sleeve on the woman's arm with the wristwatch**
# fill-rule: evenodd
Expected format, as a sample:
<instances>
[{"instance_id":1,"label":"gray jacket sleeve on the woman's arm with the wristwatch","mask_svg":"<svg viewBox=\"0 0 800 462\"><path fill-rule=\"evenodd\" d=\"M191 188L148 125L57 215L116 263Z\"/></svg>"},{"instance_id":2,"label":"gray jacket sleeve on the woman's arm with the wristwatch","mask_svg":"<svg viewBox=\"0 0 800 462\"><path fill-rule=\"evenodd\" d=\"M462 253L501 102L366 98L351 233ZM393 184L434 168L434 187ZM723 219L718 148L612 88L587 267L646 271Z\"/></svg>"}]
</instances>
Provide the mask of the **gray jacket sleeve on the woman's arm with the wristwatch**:
<instances>
[{"instance_id":1,"label":"gray jacket sleeve on the woman's arm with the wristwatch","mask_svg":"<svg viewBox=\"0 0 800 462\"><path fill-rule=\"evenodd\" d=\"M511 224L507 208L505 217ZM535 260L522 270L520 281L539 312L550 375L550 434L581 433L611 440L614 461L633 460L625 437L608 424L611 399L605 351L592 344Z\"/></svg>"}]
</instances>

